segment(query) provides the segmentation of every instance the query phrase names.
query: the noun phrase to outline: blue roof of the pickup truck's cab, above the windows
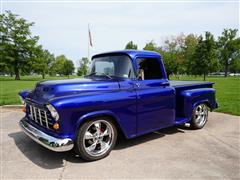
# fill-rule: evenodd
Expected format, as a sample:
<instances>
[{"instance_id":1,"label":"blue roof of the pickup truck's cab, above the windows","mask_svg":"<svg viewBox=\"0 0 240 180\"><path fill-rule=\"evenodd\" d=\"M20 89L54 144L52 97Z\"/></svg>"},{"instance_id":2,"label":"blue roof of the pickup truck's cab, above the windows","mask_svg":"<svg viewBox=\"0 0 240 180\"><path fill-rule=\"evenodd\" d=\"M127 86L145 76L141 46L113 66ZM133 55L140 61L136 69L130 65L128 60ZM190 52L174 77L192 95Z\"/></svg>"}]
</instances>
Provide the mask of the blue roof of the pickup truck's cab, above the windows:
<instances>
[{"instance_id":1,"label":"blue roof of the pickup truck's cab, above the windows","mask_svg":"<svg viewBox=\"0 0 240 180\"><path fill-rule=\"evenodd\" d=\"M157 52L154 51L139 51L139 50L120 50L120 51L111 51L111 52L104 52L104 53L100 53L100 54L96 54L92 57L96 58L96 57L100 57L100 56L106 56L106 55L117 55L117 54L125 54L130 56L132 59L135 56L158 56L160 57L160 54L158 54Z\"/></svg>"}]
</instances>

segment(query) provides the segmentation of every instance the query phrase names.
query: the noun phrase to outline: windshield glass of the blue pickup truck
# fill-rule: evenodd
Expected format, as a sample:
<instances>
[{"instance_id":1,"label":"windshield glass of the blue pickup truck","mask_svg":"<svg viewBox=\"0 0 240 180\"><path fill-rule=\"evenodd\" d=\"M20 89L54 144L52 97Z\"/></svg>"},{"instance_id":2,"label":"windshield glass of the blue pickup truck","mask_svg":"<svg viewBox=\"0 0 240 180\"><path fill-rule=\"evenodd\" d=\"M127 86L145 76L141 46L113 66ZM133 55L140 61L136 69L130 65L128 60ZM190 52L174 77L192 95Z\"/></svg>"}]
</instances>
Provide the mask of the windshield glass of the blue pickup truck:
<instances>
[{"instance_id":1,"label":"windshield glass of the blue pickup truck","mask_svg":"<svg viewBox=\"0 0 240 180\"><path fill-rule=\"evenodd\" d=\"M90 75L134 78L131 59L127 55L112 55L94 58Z\"/></svg>"}]
</instances>

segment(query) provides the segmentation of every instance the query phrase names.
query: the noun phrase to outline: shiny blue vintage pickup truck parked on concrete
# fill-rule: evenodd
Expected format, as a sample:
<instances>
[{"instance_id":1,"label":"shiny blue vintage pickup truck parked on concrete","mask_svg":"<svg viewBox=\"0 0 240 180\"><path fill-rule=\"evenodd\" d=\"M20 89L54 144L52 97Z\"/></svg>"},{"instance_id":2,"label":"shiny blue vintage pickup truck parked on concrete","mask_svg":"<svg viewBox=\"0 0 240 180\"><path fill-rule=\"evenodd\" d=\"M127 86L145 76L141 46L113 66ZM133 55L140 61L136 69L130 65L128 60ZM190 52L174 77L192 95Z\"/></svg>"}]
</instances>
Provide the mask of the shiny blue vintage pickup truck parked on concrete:
<instances>
[{"instance_id":1,"label":"shiny blue vintage pickup truck parked on concrete","mask_svg":"<svg viewBox=\"0 0 240 180\"><path fill-rule=\"evenodd\" d=\"M42 81L19 95L26 112L19 125L30 138L86 161L106 157L119 133L134 138L187 122L201 129L217 108L213 83L169 81L151 51L97 54L84 78Z\"/></svg>"}]
</instances>

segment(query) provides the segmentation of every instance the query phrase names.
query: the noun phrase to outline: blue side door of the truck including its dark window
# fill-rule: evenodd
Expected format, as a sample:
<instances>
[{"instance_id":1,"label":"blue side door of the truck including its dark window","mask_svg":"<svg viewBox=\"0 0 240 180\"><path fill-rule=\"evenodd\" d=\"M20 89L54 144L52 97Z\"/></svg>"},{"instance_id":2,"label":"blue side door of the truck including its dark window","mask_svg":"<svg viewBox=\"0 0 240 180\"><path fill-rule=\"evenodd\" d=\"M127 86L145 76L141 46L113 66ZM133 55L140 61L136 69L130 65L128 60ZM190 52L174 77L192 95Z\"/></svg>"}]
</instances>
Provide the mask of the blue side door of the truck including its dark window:
<instances>
[{"instance_id":1,"label":"blue side door of the truck including its dark window","mask_svg":"<svg viewBox=\"0 0 240 180\"><path fill-rule=\"evenodd\" d=\"M175 120L175 90L162 78L161 60L136 58L142 79L134 82L137 94L137 133L171 126Z\"/></svg>"}]
</instances>

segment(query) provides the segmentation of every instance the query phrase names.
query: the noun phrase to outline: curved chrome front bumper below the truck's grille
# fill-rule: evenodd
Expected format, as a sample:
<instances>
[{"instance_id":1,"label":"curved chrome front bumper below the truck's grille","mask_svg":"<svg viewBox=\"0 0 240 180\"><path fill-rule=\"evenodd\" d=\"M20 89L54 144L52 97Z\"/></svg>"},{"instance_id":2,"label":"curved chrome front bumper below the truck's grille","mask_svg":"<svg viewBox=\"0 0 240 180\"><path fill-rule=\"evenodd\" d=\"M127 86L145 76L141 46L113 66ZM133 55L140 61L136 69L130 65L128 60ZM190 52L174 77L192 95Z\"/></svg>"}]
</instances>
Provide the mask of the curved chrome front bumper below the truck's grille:
<instances>
[{"instance_id":1,"label":"curved chrome front bumper below the truck's grille","mask_svg":"<svg viewBox=\"0 0 240 180\"><path fill-rule=\"evenodd\" d=\"M38 130L29 124L25 118L19 122L23 132L36 141L38 144L56 152L69 151L73 148L73 141L70 138L58 139Z\"/></svg>"}]
</instances>

